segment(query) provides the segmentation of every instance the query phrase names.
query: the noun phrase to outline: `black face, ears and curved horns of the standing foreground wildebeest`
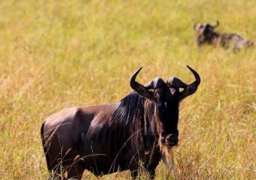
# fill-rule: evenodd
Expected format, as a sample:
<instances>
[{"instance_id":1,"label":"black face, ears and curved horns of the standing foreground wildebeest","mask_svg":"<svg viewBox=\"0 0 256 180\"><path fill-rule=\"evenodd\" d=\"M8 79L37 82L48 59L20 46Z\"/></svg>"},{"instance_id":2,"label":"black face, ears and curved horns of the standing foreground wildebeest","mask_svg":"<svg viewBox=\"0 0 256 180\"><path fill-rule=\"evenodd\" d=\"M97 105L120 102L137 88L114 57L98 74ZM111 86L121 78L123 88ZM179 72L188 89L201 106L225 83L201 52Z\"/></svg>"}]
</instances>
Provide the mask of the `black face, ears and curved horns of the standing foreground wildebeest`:
<instances>
[{"instance_id":1,"label":"black face, ears and curved horns of the standing foreground wildebeest","mask_svg":"<svg viewBox=\"0 0 256 180\"><path fill-rule=\"evenodd\" d=\"M154 78L143 86L136 82L136 76L140 72L139 68L130 79L130 86L140 96L150 100L155 105L156 123L158 123L158 133L160 142L166 147L172 147L178 143L178 115L180 102L194 94L200 84L198 73L187 66L195 76L195 81L191 84L182 82L179 78L171 77L167 82L162 78ZM183 89L180 91L180 88Z\"/></svg>"}]
</instances>

